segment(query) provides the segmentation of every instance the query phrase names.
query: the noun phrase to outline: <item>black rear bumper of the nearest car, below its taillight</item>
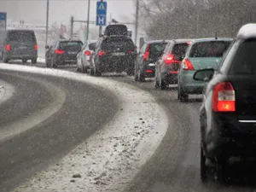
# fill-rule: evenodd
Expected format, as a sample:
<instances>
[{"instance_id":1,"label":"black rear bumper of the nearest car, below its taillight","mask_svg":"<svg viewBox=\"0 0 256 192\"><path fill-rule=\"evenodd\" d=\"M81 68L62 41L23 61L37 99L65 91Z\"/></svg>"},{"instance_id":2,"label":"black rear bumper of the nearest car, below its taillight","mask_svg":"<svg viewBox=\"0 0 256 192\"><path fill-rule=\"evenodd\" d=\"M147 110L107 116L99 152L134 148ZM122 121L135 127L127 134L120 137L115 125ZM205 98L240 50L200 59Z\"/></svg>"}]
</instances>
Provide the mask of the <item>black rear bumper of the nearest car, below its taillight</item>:
<instances>
[{"instance_id":1,"label":"black rear bumper of the nearest car, below its taillight","mask_svg":"<svg viewBox=\"0 0 256 192\"><path fill-rule=\"evenodd\" d=\"M235 113L212 113L212 134L208 134L207 155L256 158L256 125L240 123Z\"/></svg>"}]
</instances>

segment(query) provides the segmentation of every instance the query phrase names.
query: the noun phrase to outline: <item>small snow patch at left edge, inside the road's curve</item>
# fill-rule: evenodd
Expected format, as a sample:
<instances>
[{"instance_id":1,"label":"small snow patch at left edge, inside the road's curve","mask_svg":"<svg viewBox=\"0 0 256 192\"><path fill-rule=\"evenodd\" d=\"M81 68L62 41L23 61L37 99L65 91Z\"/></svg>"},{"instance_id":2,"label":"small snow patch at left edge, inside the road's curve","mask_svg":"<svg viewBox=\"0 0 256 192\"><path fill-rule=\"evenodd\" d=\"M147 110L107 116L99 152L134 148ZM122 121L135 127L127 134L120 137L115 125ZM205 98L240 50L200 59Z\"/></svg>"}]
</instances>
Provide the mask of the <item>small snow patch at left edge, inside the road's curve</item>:
<instances>
[{"instance_id":1,"label":"small snow patch at left edge, inside the road's curve","mask_svg":"<svg viewBox=\"0 0 256 192\"><path fill-rule=\"evenodd\" d=\"M15 87L3 80L0 80L0 105L9 100L15 93Z\"/></svg>"}]
</instances>

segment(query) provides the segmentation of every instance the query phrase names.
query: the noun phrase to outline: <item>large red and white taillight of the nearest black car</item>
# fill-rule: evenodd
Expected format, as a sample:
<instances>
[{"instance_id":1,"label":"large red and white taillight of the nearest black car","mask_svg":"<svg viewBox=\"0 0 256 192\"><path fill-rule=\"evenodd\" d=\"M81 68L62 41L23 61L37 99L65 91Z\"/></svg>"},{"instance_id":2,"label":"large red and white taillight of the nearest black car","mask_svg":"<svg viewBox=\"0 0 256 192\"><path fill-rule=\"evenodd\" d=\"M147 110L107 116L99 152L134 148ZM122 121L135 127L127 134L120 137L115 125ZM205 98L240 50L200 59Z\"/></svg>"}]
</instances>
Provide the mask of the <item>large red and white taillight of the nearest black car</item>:
<instances>
[{"instance_id":1,"label":"large red and white taillight of the nearest black car","mask_svg":"<svg viewBox=\"0 0 256 192\"><path fill-rule=\"evenodd\" d=\"M218 83L213 88L212 111L235 112L235 90L230 82Z\"/></svg>"}]
</instances>

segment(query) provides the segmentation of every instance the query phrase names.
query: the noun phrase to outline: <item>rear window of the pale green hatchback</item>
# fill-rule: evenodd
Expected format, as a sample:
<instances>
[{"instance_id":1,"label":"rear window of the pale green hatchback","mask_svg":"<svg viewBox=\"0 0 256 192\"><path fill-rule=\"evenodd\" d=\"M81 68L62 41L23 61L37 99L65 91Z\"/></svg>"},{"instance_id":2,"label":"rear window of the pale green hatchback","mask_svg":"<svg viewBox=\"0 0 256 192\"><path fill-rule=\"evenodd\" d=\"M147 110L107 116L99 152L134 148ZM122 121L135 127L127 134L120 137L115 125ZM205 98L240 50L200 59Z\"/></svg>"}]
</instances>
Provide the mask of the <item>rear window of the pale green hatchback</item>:
<instances>
[{"instance_id":1,"label":"rear window of the pale green hatchback","mask_svg":"<svg viewBox=\"0 0 256 192\"><path fill-rule=\"evenodd\" d=\"M231 41L208 41L192 45L189 57L222 57Z\"/></svg>"}]
</instances>

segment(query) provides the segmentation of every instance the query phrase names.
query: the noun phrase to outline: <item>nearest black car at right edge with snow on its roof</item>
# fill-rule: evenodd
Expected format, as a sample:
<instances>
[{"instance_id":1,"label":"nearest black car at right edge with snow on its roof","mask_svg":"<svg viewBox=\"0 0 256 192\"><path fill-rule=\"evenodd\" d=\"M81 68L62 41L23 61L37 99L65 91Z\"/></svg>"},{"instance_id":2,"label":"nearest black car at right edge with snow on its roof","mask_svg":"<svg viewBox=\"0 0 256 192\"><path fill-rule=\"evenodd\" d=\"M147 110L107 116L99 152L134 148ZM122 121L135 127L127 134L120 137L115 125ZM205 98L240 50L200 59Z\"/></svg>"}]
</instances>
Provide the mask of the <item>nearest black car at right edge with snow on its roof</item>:
<instances>
[{"instance_id":1,"label":"nearest black car at right edge with snow on its roof","mask_svg":"<svg viewBox=\"0 0 256 192\"><path fill-rule=\"evenodd\" d=\"M195 80L207 82L200 109L203 182L212 169L224 179L230 163L250 166L253 160L255 164L255 55L256 25L242 26L218 70L202 69L194 75Z\"/></svg>"}]
</instances>

